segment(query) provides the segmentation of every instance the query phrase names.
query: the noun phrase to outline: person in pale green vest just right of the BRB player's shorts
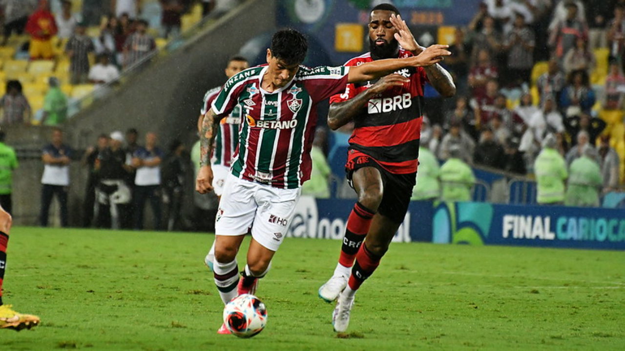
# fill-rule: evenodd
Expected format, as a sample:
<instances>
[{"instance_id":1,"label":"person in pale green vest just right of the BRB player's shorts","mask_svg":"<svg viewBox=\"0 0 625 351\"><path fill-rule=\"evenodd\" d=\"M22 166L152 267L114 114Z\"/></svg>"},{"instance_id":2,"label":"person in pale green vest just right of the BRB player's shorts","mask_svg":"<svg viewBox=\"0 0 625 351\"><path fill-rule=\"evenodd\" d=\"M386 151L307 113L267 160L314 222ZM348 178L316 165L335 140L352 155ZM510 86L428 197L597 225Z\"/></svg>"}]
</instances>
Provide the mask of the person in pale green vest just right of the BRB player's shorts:
<instances>
[{"instance_id":1,"label":"person in pale green vest just right of the BRB player's shorts","mask_svg":"<svg viewBox=\"0 0 625 351\"><path fill-rule=\"evenodd\" d=\"M438 182L441 167L436 156L427 148L427 144L427 141L421 140L417 185L412 188L411 200L434 200L441 195L441 185Z\"/></svg>"}]
</instances>

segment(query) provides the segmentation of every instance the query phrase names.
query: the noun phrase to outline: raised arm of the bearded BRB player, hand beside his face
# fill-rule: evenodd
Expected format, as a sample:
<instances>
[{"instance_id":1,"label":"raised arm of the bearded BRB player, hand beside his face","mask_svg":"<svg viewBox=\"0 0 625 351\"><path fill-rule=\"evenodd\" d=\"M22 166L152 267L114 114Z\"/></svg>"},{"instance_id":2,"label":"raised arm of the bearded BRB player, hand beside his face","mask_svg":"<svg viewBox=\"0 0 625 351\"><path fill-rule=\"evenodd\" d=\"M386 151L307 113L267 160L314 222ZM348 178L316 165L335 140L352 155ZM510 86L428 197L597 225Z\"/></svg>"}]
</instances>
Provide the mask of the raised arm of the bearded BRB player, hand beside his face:
<instances>
[{"instance_id":1,"label":"raised arm of the bearded BRB player, hand beside his face","mask_svg":"<svg viewBox=\"0 0 625 351\"><path fill-rule=\"evenodd\" d=\"M397 29L395 39L397 39L401 47L411 51L412 54L417 57L421 56L421 54L427 50L414 40L412 32L408 28L406 21L401 19L401 16L392 14L391 23L395 29ZM442 61L442 58L439 61ZM434 62L434 64L424 66L424 69L426 70L427 79L429 79L430 84L432 84L432 87L434 87L439 94L443 97L452 97L456 94L456 84L454 84L451 74L441 67L441 65Z\"/></svg>"}]
</instances>

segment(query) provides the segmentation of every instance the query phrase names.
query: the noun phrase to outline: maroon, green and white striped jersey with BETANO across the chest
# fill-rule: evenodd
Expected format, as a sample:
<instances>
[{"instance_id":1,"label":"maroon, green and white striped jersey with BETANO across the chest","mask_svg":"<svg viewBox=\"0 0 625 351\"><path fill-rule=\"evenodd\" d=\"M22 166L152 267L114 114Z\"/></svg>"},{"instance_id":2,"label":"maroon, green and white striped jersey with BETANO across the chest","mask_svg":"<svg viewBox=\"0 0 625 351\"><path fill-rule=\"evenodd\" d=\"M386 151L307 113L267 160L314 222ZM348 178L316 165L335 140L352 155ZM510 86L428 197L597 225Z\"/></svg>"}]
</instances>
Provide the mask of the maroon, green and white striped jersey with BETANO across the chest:
<instances>
[{"instance_id":1,"label":"maroon, green and white striped jersey with BETANO across the chest","mask_svg":"<svg viewBox=\"0 0 625 351\"><path fill-rule=\"evenodd\" d=\"M349 67L303 67L281 89L261 88L267 66L232 76L212 102L219 116L242 109L234 176L295 189L310 178L317 103L345 89Z\"/></svg>"}]
</instances>

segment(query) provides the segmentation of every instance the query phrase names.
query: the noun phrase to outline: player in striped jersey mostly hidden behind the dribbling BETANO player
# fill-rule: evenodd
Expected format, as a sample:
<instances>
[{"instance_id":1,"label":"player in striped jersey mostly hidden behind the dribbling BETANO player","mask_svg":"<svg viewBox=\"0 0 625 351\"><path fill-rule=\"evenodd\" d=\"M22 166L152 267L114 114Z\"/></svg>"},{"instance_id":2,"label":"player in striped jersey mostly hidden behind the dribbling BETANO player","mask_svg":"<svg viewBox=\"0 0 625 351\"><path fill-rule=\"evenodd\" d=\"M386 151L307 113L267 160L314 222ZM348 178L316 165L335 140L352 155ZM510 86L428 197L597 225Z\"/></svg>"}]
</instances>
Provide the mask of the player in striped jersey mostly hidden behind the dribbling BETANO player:
<instances>
[{"instance_id":1,"label":"player in striped jersey mostly hidden behind the dribbling BETANO player","mask_svg":"<svg viewBox=\"0 0 625 351\"><path fill-rule=\"evenodd\" d=\"M228 64L224 72L226 77L230 77L249 68L247 59L242 56L232 56L228 60ZM197 131L201 132L202 118L209 109L211 109L212 101L217 97L221 86L209 89L204 95L204 105L200 110L199 119L197 120ZM226 177L230 172L230 164L232 162L232 156L236 152L236 147L239 142L239 126L241 125L241 106L236 106L232 110L229 116L225 117L219 123L219 129L217 129L217 136L215 137L215 146L212 150L211 166L212 166L212 190L217 195L217 202L221 199L221 194L224 192L224 184L226 183ZM212 270L212 260L215 257L215 242L212 242L211 249L204 258L204 262Z\"/></svg>"}]
</instances>

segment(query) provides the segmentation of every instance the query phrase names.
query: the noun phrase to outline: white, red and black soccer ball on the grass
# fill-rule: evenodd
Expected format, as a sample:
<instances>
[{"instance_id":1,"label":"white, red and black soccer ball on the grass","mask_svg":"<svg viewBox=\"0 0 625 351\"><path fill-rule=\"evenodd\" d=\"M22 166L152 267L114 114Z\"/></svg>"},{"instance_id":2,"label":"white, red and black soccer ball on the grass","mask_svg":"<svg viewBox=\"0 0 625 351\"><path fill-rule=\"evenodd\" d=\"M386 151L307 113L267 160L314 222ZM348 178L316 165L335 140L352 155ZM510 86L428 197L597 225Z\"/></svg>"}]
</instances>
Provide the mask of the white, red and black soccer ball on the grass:
<instances>
[{"instance_id":1,"label":"white, red and black soccer ball on the grass","mask_svg":"<svg viewBox=\"0 0 625 351\"><path fill-rule=\"evenodd\" d=\"M265 304L254 295L239 295L224 307L224 324L237 337L251 338L267 324Z\"/></svg>"}]
</instances>

